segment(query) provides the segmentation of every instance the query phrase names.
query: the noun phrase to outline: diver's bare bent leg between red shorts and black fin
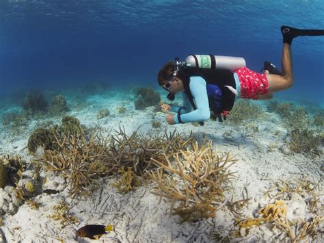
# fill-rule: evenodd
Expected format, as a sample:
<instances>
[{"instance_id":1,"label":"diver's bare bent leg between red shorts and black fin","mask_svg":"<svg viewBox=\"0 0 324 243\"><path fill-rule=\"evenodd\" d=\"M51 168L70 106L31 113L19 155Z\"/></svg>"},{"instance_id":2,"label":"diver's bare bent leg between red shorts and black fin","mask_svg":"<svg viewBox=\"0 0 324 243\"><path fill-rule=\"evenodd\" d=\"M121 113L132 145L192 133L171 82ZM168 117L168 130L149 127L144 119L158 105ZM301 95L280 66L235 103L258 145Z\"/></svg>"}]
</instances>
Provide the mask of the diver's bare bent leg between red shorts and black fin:
<instances>
[{"instance_id":1,"label":"diver's bare bent leg between red shorts and black fin","mask_svg":"<svg viewBox=\"0 0 324 243\"><path fill-rule=\"evenodd\" d=\"M291 58L291 45L284 43L282 48L282 75L266 74L269 92L285 90L293 86L293 62Z\"/></svg>"}]
</instances>

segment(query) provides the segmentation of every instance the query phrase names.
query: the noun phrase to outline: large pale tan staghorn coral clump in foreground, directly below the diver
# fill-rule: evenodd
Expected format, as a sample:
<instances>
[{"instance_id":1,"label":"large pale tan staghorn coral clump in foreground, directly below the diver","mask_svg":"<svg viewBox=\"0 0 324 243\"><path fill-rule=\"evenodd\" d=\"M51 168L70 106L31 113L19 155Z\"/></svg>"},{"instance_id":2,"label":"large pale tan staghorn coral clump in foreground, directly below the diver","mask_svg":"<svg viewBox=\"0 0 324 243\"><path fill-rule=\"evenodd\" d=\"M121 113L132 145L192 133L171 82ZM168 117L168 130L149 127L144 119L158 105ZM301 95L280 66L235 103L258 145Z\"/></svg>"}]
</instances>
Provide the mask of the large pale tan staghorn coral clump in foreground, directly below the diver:
<instances>
[{"instance_id":1,"label":"large pale tan staghorn coral clump in foreground, directly below the diver","mask_svg":"<svg viewBox=\"0 0 324 243\"><path fill-rule=\"evenodd\" d=\"M211 202L224 198L224 191L229 189L224 184L234 174L228 172L228 168L236 160L229 153L215 155L211 142L201 147L195 142L191 150L176 152L175 165L169 156L164 156L167 164L152 159L159 166L157 172L149 172L157 183L152 194L160 196L160 201L162 197L171 199L170 213L179 215L181 222L215 216L216 208ZM170 175L165 175L164 171ZM175 208L176 203L178 207Z\"/></svg>"}]
</instances>

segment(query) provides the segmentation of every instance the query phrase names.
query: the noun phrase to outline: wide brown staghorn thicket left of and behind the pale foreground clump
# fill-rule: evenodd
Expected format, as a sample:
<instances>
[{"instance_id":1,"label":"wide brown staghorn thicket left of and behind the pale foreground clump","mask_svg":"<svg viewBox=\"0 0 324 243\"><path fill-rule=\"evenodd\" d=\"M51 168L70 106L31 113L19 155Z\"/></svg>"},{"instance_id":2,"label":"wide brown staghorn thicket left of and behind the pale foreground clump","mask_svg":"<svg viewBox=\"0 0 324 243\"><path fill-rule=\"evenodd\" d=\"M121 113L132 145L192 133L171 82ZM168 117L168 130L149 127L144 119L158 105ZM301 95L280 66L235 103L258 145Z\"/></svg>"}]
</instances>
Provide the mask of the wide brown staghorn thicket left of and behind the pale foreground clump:
<instances>
[{"instance_id":1,"label":"wide brown staghorn thicket left of and behind the pale foreground clump","mask_svg":"<svg viewBox=\"0 0 324 243\"><path fill-rule=\"evenodd\" d=\"M66 137L55 136L54 150L45 150L42 163L46 170L60 171L68 181L70 195L88 194L96 187L100 177L107 177L119 168L132 167L137 175L155 168L151 158L163 160L163 153L174 153L184 149L193 140L184 138L176 131L150 133L148 138L137 131L126 135L125 131L108 131L107 137L99 133L78 133Z\"/></svg>"}]
</instances>

